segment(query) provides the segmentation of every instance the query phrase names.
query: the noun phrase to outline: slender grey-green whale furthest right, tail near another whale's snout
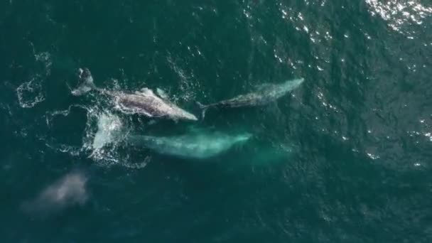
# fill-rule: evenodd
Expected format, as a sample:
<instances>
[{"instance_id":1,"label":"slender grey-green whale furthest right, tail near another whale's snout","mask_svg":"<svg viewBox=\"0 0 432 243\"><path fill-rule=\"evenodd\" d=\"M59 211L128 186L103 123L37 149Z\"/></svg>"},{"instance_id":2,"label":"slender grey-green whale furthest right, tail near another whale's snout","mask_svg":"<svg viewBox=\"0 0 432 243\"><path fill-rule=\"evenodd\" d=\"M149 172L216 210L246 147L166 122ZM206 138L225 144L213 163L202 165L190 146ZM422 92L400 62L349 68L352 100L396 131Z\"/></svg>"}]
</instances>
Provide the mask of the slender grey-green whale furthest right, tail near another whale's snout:
<instances>
[{"instance_id":1,"label":"slender grey-green whale furthest right, tail near another whale's snout","mask_svg":"<svg viewBox=\"0 0 432 243\"><path fill-rule=\"evenodd\" d=\"M246 95L239 95L232 99L226 99L212 104L197 103L202 110L202 117L205 116L207 109L211 107L254 107L269 104L270 102L283 97L291 90L296 89L296 87L300 86L303 81L304 79L300 78L296 80L288 80L282 84L263 84L257 86L257 89L254 92Z\"/></svg>"}]
</instances>

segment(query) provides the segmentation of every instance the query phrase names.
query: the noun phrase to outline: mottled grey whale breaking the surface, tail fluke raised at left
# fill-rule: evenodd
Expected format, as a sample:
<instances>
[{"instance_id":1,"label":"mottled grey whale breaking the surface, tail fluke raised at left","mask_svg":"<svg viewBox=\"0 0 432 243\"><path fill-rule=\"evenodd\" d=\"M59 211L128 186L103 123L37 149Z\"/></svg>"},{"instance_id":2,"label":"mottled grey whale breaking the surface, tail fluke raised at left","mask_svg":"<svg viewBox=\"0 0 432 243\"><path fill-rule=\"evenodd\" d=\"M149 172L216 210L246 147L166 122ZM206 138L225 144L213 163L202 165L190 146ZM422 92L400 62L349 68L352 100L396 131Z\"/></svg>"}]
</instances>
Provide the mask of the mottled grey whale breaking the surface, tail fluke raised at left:
<instances>
[{"instance_id":1,"label":"mottled grey whale breaking the surface, tail fluke raised at left","mask_svg":"<svg viewBox=\"0 0 432 243\"><path fill-rule=\"evenodd\" d=\"M77 89L72 90L72 95L83 95L90 90L112 97L119 109L125 113L143 114L146 117L164 117L173 120L197 121L194 114L186 112L177 105L155 95L152 90L144 88L135 93L117 92L96 87L93 82L92 74L87 68L80 69L80 80L82 84Z\"/></svg>"}]
</instances>

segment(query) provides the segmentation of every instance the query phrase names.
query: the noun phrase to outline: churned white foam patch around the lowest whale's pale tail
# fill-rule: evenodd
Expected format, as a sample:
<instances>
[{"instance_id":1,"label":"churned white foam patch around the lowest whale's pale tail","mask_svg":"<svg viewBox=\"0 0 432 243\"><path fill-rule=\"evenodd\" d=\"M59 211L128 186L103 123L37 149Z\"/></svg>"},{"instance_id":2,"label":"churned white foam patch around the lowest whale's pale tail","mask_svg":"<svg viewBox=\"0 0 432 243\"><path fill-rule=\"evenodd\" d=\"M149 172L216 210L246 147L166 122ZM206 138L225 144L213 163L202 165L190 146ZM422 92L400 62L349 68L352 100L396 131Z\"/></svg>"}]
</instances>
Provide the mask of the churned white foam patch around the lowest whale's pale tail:
<instances>
[{"instance_id":1,"label":"churned white foam patch around the lowest whale's pale tail","mask_svg":"<svg viewBox=\"0 0 432 243\"><path fill-rule=\"evenodd\" d=\"M55 123L54 117L68 117L73 113L72 107L85 109L87 111L87 121L85 124L82 145L62 144L55 139L45 141L46 146L60 153L68 153L70 156L88 156L97 166L111 167L124 166L130 169L141 169L151 158L146 156L131 156L123 139L131 130L131 117L125 115L119 117L110 112L104 97L96 97L94 106L71 105L68 109L48 112L46 122L48 126ZM122 113L121 113L122 114ZM120 115L121 115L120 114ZM144 126L144 124L141 124ZM132 158L133 157L133 158Z\"/></svg>"}]
</instances>

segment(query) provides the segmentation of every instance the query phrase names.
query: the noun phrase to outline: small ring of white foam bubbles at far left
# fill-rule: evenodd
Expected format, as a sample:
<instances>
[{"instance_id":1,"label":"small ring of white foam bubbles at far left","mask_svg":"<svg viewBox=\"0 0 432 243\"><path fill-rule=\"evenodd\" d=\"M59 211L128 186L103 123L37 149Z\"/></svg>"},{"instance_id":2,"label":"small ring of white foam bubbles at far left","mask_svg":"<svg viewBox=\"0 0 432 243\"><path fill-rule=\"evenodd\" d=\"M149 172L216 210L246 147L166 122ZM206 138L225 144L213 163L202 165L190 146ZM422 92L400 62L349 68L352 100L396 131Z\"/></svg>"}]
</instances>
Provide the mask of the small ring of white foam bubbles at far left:
<instances>
[{"instance_id":1,"label":"small ring of white foam bubbles at far left","mask_svg":"<svg viewBox=\"0 0 432 243\"><path fill-rule=\"evenodd\" d=\"M43 87L40 80L34 77L28 82L24 82L16 89L19 105L23 108L31 108L43 102Z\"/></svg>"}]
</instances>

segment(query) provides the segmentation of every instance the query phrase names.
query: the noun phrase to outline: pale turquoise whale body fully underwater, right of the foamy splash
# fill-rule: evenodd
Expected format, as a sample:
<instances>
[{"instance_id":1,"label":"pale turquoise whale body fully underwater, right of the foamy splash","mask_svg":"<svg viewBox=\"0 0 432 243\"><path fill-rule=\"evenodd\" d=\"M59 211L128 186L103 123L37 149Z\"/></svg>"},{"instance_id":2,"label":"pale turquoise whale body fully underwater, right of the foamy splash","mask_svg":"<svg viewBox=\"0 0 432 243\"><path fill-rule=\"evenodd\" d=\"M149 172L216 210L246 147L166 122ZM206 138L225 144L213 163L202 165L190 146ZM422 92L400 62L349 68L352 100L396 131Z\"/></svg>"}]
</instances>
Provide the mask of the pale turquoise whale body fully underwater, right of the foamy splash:
<instances>
[{"instance_id":1,"label":"pale turquoise whale body fully underwater, right of the foamy splash","mask_svg":"<svg viewBox=\"0 0 432 243\"><path fill-rule=\"evenodd\" d=\"M203 159L217 156L251 137L251 134L228 135L213 131L193 131L182 136L129 135L126 142L132 146L151 148L161 154Z\"/></svg>"}]
</instances>

